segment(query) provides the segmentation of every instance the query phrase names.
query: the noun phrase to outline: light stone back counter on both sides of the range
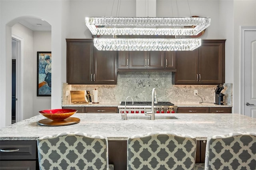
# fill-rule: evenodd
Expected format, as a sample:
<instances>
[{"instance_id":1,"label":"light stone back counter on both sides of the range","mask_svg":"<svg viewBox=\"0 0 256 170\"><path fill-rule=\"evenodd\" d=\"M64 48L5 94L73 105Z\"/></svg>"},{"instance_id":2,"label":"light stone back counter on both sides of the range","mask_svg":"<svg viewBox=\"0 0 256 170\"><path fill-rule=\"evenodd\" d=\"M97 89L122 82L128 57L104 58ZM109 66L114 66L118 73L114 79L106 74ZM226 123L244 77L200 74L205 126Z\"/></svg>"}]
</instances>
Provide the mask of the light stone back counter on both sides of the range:
<instances>
[{"instance_id":1,"label":"light stone back counter on both sides of the range","mask_svg":"<svg viewBox=\"0 0 256 170\"><path fill-rule=\"evenodd\" d=\"M230 105L218 105L214 103L173 103L178 107L232 107ZM62 104L62 107L117 107L119 102L111 103L76 103L76 104Z\"/></svg>"}]
</instances>

